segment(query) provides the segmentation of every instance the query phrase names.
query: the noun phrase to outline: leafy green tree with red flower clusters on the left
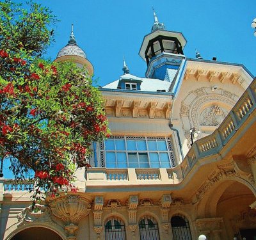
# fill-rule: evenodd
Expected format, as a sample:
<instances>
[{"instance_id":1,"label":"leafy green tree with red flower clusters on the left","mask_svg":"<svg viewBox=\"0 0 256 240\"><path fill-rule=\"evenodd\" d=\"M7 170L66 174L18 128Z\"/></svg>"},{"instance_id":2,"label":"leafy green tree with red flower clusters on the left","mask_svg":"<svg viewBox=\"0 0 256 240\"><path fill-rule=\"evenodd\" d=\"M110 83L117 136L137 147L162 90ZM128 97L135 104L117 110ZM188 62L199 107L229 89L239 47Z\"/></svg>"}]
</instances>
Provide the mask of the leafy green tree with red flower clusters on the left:
<instances>
[{"instance_id":1,"label":"leafy green tree with red flower clusters on the left","mask_svg":"<svg viewBox=\"0 0 256 240\"><path fill-rule=\"evenodd\" d=\"M51 42L55 17L36 3L29 10L0 3L0 159L16 179L35 172L40 189L54 197L88 167L93 141L107 137L104 102L85 69L40 60Z\"/></svg>"}]
</instances>

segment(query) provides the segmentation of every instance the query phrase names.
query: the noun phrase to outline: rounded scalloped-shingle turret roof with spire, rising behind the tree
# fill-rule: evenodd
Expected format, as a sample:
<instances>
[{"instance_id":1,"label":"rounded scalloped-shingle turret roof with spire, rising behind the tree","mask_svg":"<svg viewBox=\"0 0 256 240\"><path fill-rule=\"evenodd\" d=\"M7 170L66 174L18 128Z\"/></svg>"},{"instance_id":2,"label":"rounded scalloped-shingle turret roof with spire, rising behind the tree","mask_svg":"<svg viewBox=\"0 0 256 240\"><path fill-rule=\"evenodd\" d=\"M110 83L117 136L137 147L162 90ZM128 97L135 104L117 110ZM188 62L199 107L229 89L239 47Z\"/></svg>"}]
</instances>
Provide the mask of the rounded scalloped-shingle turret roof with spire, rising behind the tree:
<instances>
[{"instance_id":1,"label":"rounded scalloped-shingle turret roof with spire, rising behind the tree","mask_svg":"<svg viewBox=\"0 0 256 240\"><path fill-rule=\"evenodd\" d=\"M88 61L85 52L79 45L77 45L76 38L74 36L73 24L68 40L68 44L65 45L57 54L56 62L58 61L74 61L78 67L85 66L89 74L93 74L93 65Z\"/></svg>"}]
</instances>

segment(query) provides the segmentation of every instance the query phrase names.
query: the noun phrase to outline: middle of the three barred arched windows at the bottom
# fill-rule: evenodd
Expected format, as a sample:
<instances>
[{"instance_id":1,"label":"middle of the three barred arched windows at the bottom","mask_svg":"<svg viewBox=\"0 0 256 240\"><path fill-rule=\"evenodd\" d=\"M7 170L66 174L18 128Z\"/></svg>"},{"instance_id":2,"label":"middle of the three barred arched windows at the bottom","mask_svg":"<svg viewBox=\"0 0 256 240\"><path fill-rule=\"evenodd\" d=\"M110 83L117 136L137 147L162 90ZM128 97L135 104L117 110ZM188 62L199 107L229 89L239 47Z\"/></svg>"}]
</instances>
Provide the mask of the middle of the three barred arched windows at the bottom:
<instances>
[{"instance_id":1,"label":"middle of the three barred arched windows at the bottom","mask_svg":"<svg viewBox=\"0 0 256 240\"><path fill-rule=\"evenodd\" d=\"M139 221L140 240L159 240L157 221L151 216L143 216Z\"/></svg>"}]
</instances>

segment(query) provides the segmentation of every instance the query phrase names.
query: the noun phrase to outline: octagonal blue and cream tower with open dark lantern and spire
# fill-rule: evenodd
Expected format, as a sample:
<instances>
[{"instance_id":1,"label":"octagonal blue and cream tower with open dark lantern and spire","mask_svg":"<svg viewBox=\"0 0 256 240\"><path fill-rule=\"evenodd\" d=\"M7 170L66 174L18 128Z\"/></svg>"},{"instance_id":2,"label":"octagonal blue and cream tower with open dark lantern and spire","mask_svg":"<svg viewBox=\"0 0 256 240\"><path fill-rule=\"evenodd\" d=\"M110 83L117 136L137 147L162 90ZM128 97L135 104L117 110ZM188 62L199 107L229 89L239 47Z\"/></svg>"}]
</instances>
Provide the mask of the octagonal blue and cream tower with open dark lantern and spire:
<instances>
[{"instance_id":1,"label":"octagonal blue and cream tower with open dark lantern and spire","mask_svg":"<svg viewBox=\"0 0 256 240\"><path fill-rule=\"evenodd\" d=\"M140 56L147 63L145 76L171 83L169 92L177 95L184 76L186 56L183 49L187 43L182 33L166 31L154 13L151 33L143 39Z\"/></svg>"}]
</instances>

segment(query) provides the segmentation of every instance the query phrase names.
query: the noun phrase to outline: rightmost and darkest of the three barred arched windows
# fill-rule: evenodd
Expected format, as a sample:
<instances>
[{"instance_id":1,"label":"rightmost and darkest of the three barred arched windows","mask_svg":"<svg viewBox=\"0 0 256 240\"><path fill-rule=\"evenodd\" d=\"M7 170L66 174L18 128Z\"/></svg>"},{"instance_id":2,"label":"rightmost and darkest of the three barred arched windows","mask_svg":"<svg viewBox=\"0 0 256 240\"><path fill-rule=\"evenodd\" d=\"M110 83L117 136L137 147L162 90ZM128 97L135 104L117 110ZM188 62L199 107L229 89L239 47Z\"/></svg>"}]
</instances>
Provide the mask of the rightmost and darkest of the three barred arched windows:
<instances>
[{"instance_id":1,"label":"rightmost and darkest of the three barred arched windows","mask_svg":"<svg viewBox=\"0 0 256 240\"><path fill-rule=\"evenodd\" d=\"M189 222L184 216L173 216L171 225L173 240L192 240Z\"/></svg>"}]
</instances>

